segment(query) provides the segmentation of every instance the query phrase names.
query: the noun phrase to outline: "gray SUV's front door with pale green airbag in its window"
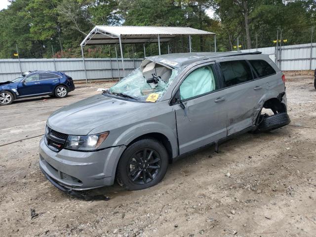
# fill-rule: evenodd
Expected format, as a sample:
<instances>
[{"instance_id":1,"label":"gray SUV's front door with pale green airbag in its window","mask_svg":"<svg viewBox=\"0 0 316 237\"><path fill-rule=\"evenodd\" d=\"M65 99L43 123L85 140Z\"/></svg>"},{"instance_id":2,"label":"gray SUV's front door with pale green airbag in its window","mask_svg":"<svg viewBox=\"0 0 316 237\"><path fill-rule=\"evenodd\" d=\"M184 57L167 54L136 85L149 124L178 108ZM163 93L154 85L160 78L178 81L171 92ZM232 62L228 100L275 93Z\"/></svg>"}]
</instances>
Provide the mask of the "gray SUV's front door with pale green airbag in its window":
<instances>
[{"instance_id":1,"label":"gray SUV's front door with pale green airbag in its window","mask_svg":"<svg viewBox=\"0 0 316 237\"><path fill-rule=\"evenodd\" d=\"M191 70L179 87L174 105L180 155L227 136L226 98L219 90L214 64Z\"/></svg>"}]
</instances>

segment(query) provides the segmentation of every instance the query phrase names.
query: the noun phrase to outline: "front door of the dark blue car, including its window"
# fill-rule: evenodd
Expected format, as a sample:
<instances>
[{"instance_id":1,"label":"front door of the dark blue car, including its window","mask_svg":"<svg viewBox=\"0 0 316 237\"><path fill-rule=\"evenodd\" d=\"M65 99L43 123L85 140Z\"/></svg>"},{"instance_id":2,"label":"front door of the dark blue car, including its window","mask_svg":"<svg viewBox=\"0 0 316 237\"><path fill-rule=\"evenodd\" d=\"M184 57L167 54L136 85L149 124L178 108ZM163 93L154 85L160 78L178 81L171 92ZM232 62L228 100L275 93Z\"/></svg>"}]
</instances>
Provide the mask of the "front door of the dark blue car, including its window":
<instances>
[{"instance_id":1,"label":"front door of the dark blue car, including its window","mask_svg":"<svg viewBox=\"0 0 316 237\"><path fill-rule=\"evenodd\" d=\"M20 96L28 96L42 93L40 91L39 74L33 74L25 78L18 86Z\"/></svg>"}]
</instances>

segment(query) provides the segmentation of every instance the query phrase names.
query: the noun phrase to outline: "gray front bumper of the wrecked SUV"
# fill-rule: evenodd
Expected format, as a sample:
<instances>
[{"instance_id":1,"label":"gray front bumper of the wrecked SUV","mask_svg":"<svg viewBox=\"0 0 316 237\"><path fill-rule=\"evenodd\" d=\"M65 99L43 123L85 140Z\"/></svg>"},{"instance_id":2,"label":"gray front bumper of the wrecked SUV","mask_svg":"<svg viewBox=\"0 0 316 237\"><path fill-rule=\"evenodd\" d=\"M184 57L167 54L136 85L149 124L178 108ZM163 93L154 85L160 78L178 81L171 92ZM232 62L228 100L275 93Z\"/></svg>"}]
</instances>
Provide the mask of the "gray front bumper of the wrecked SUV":
<instances>
[{"instance_id":1,"label":"gray front bumper of the wrecked SUV","mask_svg":"<svg viewBox=\"0 0 316 237\"><path fill-rule=\"evenodd\" d=\"M40 169L51 178L57 188L63 186L71 190L87 190L113 185L118 159L124 146L108 148L97 152L50 150L42 138L40 140ZM52 182L52 180L54 182ZM60 189L60 188L59 188Z\"/></svg>"}]
</instances>

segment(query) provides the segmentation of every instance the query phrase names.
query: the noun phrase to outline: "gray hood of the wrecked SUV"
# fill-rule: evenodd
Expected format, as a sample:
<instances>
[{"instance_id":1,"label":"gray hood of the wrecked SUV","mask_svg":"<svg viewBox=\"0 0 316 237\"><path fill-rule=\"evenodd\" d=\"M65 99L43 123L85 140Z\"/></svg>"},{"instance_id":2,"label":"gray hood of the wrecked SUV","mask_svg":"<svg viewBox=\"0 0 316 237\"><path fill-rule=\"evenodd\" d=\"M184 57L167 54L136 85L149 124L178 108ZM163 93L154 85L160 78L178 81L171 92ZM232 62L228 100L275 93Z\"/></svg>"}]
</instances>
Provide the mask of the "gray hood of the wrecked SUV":
<instances>
[{"instance_id":1,"label":"gray hood of the wrecked SUV","mask_svg":"<svg viewBox=\"0 0 316 237\"><path fill-rule=\"evenodd\" d=\"M144 105L100 94L55 111L47 125L65 134L86 135L98 126L138 113Z\"/></svg>"}]
</instances>

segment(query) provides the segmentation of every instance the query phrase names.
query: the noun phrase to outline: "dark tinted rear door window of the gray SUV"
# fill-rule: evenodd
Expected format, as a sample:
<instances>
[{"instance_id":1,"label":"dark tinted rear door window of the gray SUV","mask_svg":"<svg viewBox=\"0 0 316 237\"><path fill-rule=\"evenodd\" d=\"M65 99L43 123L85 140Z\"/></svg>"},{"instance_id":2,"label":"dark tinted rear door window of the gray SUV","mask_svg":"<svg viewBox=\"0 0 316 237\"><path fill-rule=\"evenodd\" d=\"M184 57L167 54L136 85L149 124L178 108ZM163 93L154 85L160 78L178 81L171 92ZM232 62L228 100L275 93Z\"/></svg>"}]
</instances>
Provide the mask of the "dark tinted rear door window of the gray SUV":
<instances>
[{"instance_id":1,"label":"dark tinted rear door window of the gray SUV","mask_svg":"<svg viewBox=\"0 0 316 237\"><path fill-rule=\"evenodd\" d=\"M237 85L252 80L250 67L245 60L221 62L224 86Z\"/></svg>"}]
</instances>

